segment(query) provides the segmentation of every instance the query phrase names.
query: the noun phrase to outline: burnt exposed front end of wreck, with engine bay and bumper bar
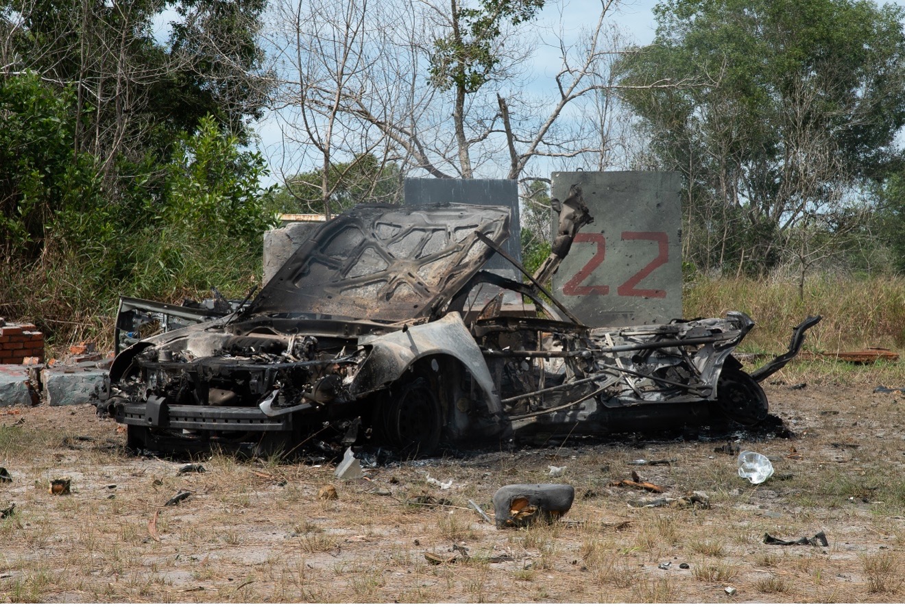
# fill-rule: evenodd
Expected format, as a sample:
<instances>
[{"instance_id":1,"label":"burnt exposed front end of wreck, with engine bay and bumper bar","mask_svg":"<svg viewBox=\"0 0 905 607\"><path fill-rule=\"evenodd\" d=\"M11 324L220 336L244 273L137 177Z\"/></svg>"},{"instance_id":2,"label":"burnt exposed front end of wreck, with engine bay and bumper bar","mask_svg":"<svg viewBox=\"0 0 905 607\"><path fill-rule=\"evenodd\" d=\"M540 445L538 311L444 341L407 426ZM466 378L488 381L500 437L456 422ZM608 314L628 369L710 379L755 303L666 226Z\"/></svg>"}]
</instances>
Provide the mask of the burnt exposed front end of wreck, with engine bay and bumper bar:
<instances>
[{"instance_id":1,"label":"burnt exposed front end of wreck, with engine bay and bumper bar","mask_svg":"<svg viewBox=\"0 0 905 607\"><path fill-rule=\"evenodd\" d=\"M210 356L177 341L135 356L113 389L120 422L183 431L288 431L290 413L352 403L348 384L365 352L348 341L287 335L230 336ZM308 411L311 410L311 411Z\"/></svg>"}]
</instances>

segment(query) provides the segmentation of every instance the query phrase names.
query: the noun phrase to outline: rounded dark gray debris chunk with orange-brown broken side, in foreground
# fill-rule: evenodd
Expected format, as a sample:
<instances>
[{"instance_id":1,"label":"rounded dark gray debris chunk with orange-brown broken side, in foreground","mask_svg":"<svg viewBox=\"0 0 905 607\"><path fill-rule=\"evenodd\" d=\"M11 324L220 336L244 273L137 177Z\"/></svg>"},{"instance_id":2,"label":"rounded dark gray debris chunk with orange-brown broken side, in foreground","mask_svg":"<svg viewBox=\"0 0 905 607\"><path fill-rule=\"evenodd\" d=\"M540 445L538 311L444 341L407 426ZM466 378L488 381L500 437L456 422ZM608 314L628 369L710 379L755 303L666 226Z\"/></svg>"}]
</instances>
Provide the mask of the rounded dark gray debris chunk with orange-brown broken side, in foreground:
<instances>
[{"instance_id":1,"label":"rounded dark gray debris chunk with orange-brown broken side, in foreground","mask_svg":"<svg viewBox=\"0 0 905 607\"><path fill-rule=\"evenodd\" d=\"M497 528L550 522L572 507L575 488L571 485L507 485L493 494Z\"/></svg>"}]
</instances>

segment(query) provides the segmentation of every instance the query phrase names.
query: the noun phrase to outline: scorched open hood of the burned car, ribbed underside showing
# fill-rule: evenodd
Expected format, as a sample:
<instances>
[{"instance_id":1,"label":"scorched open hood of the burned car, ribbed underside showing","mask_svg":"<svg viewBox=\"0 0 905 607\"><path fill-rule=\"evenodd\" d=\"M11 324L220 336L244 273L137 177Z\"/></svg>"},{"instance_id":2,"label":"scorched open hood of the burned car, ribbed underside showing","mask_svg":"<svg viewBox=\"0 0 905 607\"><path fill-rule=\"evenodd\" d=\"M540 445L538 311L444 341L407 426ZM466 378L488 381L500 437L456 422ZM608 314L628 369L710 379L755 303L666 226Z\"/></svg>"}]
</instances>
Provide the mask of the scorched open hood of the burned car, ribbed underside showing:
<instances>
[{"instance_id":1,"label":"scorched open hood of the burned car, ribbed underside showing","mask_svg":"<svg viewBox=\"0 0 905 607\"><path fill-rule=\"evenodd\" d=\"M504 206L360 204L321 225L243 316L308 312L429 318L509 237Z\"/></svg>"}]
</instances>

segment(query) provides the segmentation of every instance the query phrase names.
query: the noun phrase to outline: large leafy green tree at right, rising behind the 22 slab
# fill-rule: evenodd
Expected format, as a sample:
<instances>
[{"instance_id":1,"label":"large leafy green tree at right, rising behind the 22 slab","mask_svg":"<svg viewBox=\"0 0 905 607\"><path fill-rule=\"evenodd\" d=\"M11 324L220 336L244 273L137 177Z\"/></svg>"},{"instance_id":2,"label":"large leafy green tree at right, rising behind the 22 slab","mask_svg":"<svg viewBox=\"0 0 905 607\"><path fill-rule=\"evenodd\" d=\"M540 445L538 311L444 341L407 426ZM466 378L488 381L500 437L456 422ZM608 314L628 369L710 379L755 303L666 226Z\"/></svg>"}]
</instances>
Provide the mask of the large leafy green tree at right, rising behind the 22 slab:
<instances>
[{"instance_id":1,"label":"large leafy green tree at right, rising behind the 22 slab","mask_svg":"<svg viewBox=\"0 0 905 607\"><path fill-rule=\"evenodd\" d=\"M655 164L685 176L685 253L700 266L775 265L796 226L827 224L897 161L902 8L667 0L655 15L655 40L622 62L622 83L694 85L624 97Z\"/></svg>"}]
</instances>

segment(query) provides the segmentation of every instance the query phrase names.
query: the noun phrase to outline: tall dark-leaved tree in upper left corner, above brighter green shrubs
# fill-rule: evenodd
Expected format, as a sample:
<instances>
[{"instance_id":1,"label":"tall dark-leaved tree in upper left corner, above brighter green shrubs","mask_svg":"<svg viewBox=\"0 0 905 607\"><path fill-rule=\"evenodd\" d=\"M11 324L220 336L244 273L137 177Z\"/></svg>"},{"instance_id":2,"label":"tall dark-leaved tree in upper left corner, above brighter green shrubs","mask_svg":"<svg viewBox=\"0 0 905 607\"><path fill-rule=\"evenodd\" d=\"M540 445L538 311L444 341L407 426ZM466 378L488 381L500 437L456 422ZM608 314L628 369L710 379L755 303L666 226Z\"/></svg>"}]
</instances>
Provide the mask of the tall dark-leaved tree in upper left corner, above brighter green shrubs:
<instances>
[{"instance_id":1,"label":"tall dark-leaved tree in upper left corner, above brighter green shrubs","mask_svg":"<svg viewBox=\"0 0 905 607\"><path fill-rule=\"evenodd\" d=\"M266 87L257 28L264 0L0 0L0 68L71 87L84 118L75 147L104 160L166 160L179 132L213 115L243 138L259 118ZM179 18L167 43L152 25L167 8Z\"/></svg>"}]
</instances>

